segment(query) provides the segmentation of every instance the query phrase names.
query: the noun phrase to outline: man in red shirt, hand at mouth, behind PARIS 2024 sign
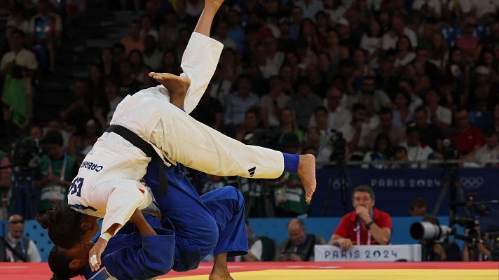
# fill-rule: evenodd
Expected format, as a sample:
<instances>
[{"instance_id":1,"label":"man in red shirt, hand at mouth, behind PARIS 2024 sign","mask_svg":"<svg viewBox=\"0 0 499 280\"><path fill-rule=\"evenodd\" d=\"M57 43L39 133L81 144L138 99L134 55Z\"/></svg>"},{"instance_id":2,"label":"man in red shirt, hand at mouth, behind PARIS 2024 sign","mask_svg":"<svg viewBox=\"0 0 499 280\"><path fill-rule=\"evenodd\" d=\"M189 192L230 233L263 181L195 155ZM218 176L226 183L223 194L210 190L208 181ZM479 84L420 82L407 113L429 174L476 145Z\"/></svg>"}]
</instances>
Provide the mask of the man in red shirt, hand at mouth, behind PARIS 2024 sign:
<instances>
[{"instance_id":1,"label":"man in red shirt, hand at mouth, behind PARIS 2024 sign","mask_svg":"<svg viewBox=\"0 0 499 280\"><path fill-rule=\"evenodd\" d=\"M350 250L353 245L385 245L390 243L392 218L388 213L374 208L374 192L369 186L353 190L354 211L341 218L329 245Z\"/></svg>"}]
</instances>

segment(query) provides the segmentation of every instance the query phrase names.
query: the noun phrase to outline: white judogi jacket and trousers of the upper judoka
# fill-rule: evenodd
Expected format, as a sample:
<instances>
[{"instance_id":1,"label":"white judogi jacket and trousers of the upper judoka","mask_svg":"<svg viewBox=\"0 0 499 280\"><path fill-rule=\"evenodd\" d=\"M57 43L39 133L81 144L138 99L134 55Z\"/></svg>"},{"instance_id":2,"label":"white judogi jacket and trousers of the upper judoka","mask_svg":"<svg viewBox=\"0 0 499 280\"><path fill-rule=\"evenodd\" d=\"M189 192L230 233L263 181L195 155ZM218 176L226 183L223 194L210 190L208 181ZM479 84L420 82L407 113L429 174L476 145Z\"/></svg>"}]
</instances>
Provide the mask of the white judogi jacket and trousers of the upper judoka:
<instances>
[{"instance_id":1,"label":"white judogi jacket and trousers of the upper judoka","mask_svg":"<svg viewBox=\"0 0 499 280\"><path fill-rule=\"evenodd\" d=\"M122 125L152 144L170 162L219 176L277 178L284 170L282 153L239 141L194 120L197 106L216 69L223 45L193 33L182 57L182 75L191 79L185 111L170 103L162 85L141 90L123 99L111 125ZM117 223L118 230L139 208L151 211L153 197L139 181L150 161L137 147L115 133L104 133L86 155L68 203L77 211L103 217L101 232ZM256 167L250 174L249 169ZM89 207L92 207L91 209ZM153 209L154 211L154 209ZM157 211L157 209L156 209ZM117 232L117 230L116 230Z\"/></svg>"}]
</instances>

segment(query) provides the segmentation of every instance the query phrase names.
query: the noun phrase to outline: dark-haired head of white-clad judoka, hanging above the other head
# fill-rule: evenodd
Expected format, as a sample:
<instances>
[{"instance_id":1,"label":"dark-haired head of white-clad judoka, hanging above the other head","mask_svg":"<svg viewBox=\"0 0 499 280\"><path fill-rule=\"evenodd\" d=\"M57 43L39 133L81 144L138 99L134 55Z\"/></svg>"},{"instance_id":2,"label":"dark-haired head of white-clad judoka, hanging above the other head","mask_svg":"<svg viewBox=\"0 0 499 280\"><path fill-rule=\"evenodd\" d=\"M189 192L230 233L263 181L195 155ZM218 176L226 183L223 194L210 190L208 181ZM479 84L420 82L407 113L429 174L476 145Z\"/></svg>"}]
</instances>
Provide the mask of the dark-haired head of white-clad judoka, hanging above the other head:
<instances>
[{"instance_id":1,"label":"dark-haired head of white-clad judoka, hanging above the other head","mask_svg":"<svg viewBox=\"0 0 499 280\"><path fill-rule=\"evenodd\" d=\"M48 237L62 248L74 248L84 244L97 233L97 218L74 211L67 204L57 203L52 210L36 217Z\"/></svg>"}]
</instances>

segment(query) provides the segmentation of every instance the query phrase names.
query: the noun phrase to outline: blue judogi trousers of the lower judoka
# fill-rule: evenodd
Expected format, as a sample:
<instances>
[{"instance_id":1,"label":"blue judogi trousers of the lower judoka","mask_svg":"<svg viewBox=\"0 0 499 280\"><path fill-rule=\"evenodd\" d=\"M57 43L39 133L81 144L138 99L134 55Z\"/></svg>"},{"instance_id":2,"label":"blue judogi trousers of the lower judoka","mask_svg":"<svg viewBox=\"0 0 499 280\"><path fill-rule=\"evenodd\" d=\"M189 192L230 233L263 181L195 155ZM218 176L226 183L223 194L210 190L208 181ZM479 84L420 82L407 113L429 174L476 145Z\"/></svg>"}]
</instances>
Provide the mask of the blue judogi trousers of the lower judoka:
<instances>
[{"instance_id":1,"label":"blue judogi trousers of the lower judoka","mask_svg":"<svg viewBox=\"0 0 499 280\"><path fill-rule=\"evenodd\" d=\"M144 181L151 188L163 217L175 231L175 271L198 267L210 252L229 256L247 253L244 199L233 187L199 196L180 165L165 167L168 195L158 195L158 169L163 161L153 158ZM163 225L168 221L163 219Z\"/></svg>"}]
</instances>

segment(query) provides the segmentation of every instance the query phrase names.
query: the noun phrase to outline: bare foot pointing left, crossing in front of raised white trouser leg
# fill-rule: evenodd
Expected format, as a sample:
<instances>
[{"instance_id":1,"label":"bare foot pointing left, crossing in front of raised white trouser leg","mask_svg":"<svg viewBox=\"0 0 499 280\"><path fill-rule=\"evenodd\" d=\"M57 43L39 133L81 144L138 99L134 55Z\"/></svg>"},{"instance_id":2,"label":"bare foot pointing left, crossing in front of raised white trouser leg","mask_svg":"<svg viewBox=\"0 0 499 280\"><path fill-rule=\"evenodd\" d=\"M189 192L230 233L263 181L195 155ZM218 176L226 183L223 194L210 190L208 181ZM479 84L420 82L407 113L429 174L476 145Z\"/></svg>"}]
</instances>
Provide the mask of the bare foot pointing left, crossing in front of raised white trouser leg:
<instances>
[{"instance_id":1,"label":"bare foot pointing left, crossing in front of raised white trouser leg","mask_svg":"<svg viewBox=\"0 0 499 280\"><path fill-rule=\"evenodd\" d=\"M170 102L179 108L184 108L184 100L187 90L191 85L191 79L184 76L176 76L170 73L150 72L149 77L155 79L165 86L170 94Z\"/></svg>"}]
</instances>

